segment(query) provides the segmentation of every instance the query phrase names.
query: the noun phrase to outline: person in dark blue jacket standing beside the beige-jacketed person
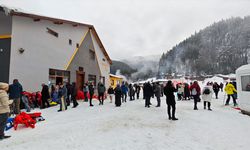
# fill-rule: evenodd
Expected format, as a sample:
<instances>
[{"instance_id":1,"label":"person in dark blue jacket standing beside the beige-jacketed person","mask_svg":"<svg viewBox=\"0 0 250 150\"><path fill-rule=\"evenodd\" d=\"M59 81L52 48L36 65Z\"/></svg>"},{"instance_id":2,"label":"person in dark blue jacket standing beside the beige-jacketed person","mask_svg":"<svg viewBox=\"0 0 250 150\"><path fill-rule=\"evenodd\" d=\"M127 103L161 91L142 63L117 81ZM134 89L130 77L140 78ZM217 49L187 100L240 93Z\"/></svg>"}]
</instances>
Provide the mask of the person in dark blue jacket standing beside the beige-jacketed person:
<instances>
[{"instance_id":1,"label":"person in dark blue jacket standing beside the beige-jacketed person","mask_svg":"<svg viewBox=\"0 0 250 150\"><path fill-rule=\"evenodd\" d=\"M13 84L9 86L9 96L13 99L14 114L20 114L20 100L23 92L22 85L17 79L13 80Z\"/></svg>"}]
</instances>

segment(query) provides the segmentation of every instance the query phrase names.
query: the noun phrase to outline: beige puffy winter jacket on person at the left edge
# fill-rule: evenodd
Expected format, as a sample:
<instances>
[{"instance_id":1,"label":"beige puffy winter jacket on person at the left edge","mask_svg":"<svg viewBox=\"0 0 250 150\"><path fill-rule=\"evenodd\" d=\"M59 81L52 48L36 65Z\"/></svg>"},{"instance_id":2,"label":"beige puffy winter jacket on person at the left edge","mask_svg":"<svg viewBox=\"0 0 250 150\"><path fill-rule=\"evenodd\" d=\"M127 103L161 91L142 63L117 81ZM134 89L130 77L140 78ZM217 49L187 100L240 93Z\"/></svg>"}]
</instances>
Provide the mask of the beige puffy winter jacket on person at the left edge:
<instances>
[{"instance_id":1,"label":"beige puffy winter jacket on person at the left edge","mask_svg":"<svg viewBox=\"0 0 250 150\"><path fill-rule=\"evenodd\" d=\"M13 100L9 100L9 96L6 91L0 90L0 114L10 112L10 104Z\"/></svg>"}]
</instances>

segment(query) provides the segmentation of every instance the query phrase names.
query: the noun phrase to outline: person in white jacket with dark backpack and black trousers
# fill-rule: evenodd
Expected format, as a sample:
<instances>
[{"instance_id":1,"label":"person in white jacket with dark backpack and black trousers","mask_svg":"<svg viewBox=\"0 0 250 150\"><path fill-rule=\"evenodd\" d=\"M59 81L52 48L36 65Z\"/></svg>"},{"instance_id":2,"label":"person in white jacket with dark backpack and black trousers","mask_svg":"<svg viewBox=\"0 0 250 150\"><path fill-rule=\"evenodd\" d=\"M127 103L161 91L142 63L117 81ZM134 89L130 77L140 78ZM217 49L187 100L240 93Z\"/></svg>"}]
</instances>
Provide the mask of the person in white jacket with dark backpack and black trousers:
<instances>
[{"instance_id":1,"label":"person in white jacket with dark backpack and black trousers","mask_svg":"<svg viewBox=\"0 0 250 150\"><path fill-rule=\"evenodd\" d=\"M204 109L206 109L206 103L208 106L208 110L212 111L211 109L211 102L212 102L212 95L213 95L213 87L212 84L207 83L207 85L202 89L202 100L204 104Z\"/></svg>"}]
</instances>

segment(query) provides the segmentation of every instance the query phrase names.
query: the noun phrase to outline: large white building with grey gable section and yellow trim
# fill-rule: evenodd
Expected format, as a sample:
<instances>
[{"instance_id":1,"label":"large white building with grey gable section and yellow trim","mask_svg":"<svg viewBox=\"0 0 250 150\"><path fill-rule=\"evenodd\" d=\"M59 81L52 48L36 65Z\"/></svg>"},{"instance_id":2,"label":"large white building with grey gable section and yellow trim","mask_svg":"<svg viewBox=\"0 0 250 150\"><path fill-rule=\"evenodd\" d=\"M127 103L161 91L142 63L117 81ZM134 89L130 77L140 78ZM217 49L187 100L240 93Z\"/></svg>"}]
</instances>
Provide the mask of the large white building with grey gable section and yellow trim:
<instances>
[{"instance_id":1,"label":"large white building with grey gable section and yellow trim","mask_svg":"<svg viewBox=\"0 0 250 150\"><path fill-rule=\"evenodd\" d=\"M27 91L42 83L109 85L111 59L93 25L0 6L0 81L18 79Z\"/></svg>"}]
</instances>

